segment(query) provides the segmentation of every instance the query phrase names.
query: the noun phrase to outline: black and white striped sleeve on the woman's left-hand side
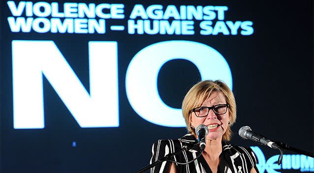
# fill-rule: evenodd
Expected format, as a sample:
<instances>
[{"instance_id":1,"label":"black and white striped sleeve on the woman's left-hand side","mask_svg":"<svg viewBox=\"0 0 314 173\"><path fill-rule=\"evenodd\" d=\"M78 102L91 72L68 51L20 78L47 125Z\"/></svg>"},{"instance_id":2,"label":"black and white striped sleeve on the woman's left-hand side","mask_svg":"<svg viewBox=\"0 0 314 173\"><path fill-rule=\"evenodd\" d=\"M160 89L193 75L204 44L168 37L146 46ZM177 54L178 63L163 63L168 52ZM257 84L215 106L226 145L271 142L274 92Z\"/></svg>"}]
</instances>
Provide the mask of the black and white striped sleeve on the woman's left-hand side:
<instances>
[{"instance_id":1,"label":"black and white striped sleeve on the woman's left-hand side","mask_svg":"<svg viewBox=\"0 0 314 173\"><path fill-rule=\"evenodd\" d=\"M173 140L158 140L152 147L152 158L150 164L163 158L174 151ZM151 168L151 173L168 173L170 162L164 161L161 164Z\"/></svg>"}]
</instances>

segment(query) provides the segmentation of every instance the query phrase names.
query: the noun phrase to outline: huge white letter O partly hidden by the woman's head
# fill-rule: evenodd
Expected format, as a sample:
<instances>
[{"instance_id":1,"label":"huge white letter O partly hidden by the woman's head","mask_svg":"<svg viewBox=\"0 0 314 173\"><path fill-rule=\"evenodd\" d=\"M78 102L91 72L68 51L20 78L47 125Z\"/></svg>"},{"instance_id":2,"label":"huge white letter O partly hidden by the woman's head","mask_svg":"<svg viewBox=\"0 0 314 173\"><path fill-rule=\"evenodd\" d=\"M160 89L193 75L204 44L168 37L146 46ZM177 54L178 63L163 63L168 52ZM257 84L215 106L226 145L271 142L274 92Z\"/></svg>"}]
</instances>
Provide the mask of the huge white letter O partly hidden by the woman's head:
<instances>
[{"instance_id":1,"label":"huge white letter O partly hidden by the woman's head","mask_svg":"<svg viewBox=\"0 0 314 173\"><path fill-rule=\"evenodd\" d=\"M157 89L157 76L164 63L186 59L196 65L202 80L222 80L232 89L227 61L215 49L198 42L175 40L152 44L139 51L126 71L126 95L142 118L162 126L185 127L181 109L167 106Z\"/></svg>"}]
</instances>

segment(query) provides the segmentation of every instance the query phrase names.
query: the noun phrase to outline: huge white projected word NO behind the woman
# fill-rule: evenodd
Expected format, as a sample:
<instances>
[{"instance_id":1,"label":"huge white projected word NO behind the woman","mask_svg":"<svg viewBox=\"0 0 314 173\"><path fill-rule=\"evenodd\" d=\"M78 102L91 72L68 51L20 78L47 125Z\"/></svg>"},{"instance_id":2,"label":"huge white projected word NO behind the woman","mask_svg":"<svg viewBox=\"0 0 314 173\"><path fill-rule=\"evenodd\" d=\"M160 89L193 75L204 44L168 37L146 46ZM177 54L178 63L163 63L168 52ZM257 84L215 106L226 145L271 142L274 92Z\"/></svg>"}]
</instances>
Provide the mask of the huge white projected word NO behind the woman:
<instances>
[{"instance_id":1,"label":"huge white projected word NO behind the woman","mask_svg":"<svg viewBox=\"0 0 314 173\"><path fill-rule=\"evenodd\" d=\"M90 93L53 41L14 40L12 52L14 128L44 128L43 75L81 127L119 126L117 42L89 42ZM181 110L164 104L157 90L161 66L177 58L194 63L202 79L220 79L232 88L229 65L215 49L184 40L150 45L128 66L126 94L151 123L185 126Z\"/></svg>"}]
</instances>

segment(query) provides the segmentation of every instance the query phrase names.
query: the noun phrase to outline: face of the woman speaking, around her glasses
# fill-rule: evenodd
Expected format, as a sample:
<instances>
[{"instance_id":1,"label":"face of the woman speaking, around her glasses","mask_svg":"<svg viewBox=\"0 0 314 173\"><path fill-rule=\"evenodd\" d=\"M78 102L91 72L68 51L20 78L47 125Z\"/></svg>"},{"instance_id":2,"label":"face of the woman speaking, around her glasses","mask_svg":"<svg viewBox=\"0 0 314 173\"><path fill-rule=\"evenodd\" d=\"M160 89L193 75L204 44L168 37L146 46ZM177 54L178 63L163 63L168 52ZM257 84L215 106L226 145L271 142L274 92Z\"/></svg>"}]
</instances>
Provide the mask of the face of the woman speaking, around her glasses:
<instances>
[{"instance_id":1,"label":"face of the woman speaking, around her glasses","mask_svg":"<svg viewBox=\"0 0 314 173\"><path fill-rule=\"evenodd\" d=\"M226 104L226 100L221 92L213 91L212 94L202 103L201 106L212 107L219 104ZM209 133L206 140L222 140L222 135L226 132L229 122L229 110L222 115L215 115L211 109L207 116L197 117L190 113L191 125L196 128L200 124L208 127Z\"/></svg>"}]
</instances>

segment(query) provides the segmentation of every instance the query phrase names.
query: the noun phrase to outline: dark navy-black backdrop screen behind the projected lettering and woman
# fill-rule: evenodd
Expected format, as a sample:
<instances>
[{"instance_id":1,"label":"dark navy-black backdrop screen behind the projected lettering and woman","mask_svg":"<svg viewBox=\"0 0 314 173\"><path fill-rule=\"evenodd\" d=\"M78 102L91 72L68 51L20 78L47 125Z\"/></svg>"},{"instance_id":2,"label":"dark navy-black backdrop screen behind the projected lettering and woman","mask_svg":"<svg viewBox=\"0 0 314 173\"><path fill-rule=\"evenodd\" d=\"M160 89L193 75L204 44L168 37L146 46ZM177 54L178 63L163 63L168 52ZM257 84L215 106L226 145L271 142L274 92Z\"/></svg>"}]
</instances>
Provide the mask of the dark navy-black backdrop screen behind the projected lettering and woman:
<instances>
[{"instance_id":1,"label":"dark navy-black backdrop screen behind the projected lettering and woman","mask_svg":"<svg viewBox=\"0 0 314 173\"><path fill-rule=\"evenodd\" d=\"M241 140L236 135L237 131L248 125L270 139L314 152L313 1L101 3L125 4L124 24L134 4L225 5L228 6L226 20L252 21L254 32L247 36L200 35L197 29L194 35L130 35L127 31L110 30L105 34L11 32L7 18L12 14L6 1L1 0L1 173L123 173L134 172L149 164L151 145L155 141L180 138L186 130L159 126L138 116L126 96L126 70L132 57L141 49L168 40L203 43L220 52L228 62L238 106L238 117L232 127L235 133L232 144L259 146L266 160L278 154L276 150ZM106 27L110 24L108 20ZM14 129L12 40L54 41L87 91L88 42L117 41L119 127L81 128L43 77L45 127ZM161 67L158 74L160 98L168 106L180 108L188 88L200 79L193 63L171 60ZM284 154L296 153L285 151ZM301 172L300 169L277 171Z\"/></svg>"}]
</instances>

